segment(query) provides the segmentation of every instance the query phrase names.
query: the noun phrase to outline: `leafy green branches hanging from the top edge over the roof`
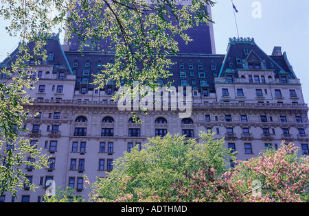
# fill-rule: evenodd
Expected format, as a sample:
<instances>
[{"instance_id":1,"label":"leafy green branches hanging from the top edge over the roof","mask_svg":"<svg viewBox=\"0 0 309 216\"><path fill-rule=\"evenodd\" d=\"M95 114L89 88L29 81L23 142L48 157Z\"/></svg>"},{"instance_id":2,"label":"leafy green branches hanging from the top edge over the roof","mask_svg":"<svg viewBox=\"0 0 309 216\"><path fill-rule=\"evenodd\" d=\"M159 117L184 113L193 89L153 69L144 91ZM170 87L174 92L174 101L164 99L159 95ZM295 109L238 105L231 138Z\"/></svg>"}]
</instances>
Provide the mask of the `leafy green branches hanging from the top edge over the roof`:
<instances>
[{"instance_id":1,"label":"leafy green branches hanging from the top edge over the roof","mask_svg":"<svg viewBox=\"0 0 309 216\"><path fill-rule=\"evenodd\" d=\"M65 30L65 41L71 43L75 35L80 51L85 46L98 49L102 48L101 42L108 43L114 59L95 75L93 84L104 88L113 82L119 87L124 81L131 91L116 93L114 99L128 93L134 98L133 81L156 91L157 80L170 77L169 56L179 51L175 36L188 43L192 39L185 30L212 22L205 5L213 6L214 1L189 2L180 5L182 2L176 0L1 0L0 18L10 21L6 27L10 36L20 35L23 42L45 43L45 34ZM167 86L170 85L169 82Z\"/></svg>"}]
</instances>

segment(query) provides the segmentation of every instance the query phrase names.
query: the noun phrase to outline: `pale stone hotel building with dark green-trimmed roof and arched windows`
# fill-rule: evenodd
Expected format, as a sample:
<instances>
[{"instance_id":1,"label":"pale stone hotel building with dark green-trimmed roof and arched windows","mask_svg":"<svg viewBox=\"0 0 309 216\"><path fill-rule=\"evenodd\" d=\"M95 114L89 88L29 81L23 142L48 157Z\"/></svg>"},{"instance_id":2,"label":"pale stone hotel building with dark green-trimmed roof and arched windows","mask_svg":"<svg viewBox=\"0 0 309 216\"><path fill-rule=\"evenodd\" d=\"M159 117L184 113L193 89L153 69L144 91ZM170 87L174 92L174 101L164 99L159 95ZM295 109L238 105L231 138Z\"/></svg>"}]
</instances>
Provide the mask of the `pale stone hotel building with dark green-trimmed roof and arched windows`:
<instances>
[{"instance_id":1,"label":"pale stone hotel building with dark green-trimmed roof and arched windows","mask_svg":"<svg viewBox=\"0 0 309 216\"><path fill-rule=\"evenodd\" d=\"M25 106L40 114L27 119L30 132L21 135L29 136L42 154L52 156L53 163L41 170L24 167L39 188L35 193L19 191L15 202L41 202L48 180L87 197L82 176L91 182L105 177L123 152L167 132L196 139L201 131L216 132L214 138L225 137L225 146L235 149L240 160L258 156L265 147L277 148L282 140L293 141L300 155L308 154L308 106L301 83L279 47L267 56L253 39L231 38L226 55L171 56L177 62L170 68L171 81L185 89L176 95L187 99L191 93L191 115L181 118L179 110L160 108L138 115L142 125L130 119L130 110L119 110L111 100L118 90L115 85L97 90L91 84L92 74L112 54L87 51L81 56L62 47L56 36L47 43L47 52L49 60L32 65L40 80L28 91L33 105ZM1 67L8 67L12 59L4 60ZM11 202L12 195L1 199Z\"/></svg>"}]
</instances>

